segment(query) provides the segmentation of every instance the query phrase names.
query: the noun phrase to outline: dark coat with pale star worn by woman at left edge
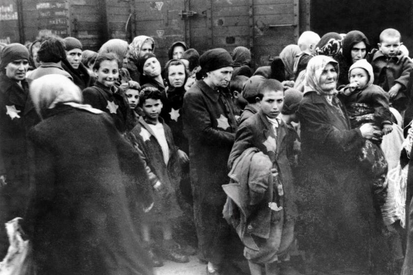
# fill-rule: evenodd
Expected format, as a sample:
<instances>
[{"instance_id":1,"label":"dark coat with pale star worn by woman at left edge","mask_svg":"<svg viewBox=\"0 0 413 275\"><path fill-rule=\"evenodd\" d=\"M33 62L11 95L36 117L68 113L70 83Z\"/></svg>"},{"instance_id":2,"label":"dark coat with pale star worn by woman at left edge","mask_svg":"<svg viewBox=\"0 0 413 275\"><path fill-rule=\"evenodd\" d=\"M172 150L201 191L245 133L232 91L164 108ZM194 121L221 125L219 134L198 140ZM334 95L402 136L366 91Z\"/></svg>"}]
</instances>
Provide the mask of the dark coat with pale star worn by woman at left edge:
<instances>
[{"instance_id":1,"label":"dark coat with pale star worn by woman at left edge","mask_svg":"<svg viewBox=\"0 0 413 275\"><path fill-rule=\"evenodd\" d=\"M25 213L29 195L29 128L39 121L29 96L29 83L22 86L0 74L0 175L7 185L0 186L0 257L5 256L8 240L3 224Z\"/></svg>"}]
</instances>

